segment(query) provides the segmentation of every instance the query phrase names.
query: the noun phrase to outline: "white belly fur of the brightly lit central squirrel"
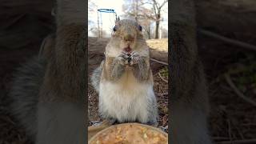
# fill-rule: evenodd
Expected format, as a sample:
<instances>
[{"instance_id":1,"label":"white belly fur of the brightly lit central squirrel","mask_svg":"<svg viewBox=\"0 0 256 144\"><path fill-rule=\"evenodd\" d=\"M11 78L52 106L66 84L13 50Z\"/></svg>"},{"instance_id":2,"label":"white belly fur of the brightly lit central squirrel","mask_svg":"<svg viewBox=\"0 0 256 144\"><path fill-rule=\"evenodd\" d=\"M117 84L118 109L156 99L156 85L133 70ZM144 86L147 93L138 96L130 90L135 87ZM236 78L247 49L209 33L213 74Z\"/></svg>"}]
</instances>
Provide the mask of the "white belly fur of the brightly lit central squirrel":
<instances>
[{"instance_id":1,"label":"white belly fur of the brightly lit central squirrel","mask_svg":"<svg viewBox=\"0 0 256 144\"><path fill-rule=\"evenodd\" d=\"M102 114L119 122L148 122L148 106L154 97L153 85L138 82L127 70L118 82L102 81L99 108Z\"/></svg>"}]
</instances>

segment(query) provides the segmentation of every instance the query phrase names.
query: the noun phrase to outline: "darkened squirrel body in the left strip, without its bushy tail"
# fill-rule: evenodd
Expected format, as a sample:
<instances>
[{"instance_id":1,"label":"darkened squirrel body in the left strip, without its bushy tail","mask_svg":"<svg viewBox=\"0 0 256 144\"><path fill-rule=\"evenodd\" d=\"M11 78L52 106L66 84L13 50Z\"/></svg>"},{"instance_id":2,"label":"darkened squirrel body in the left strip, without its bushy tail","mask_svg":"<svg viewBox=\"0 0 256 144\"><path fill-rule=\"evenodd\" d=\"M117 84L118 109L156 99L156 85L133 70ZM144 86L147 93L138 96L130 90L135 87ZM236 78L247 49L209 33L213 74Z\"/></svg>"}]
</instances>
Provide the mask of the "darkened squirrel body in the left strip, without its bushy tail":
<instances>
[{"instance_id":1,"label":"darkened squirrel body in the left strip, without its bushy tail","mask_svg":"<svg viewBox=\"0 0 256 144\"><path fill-rule=\"evenodd\" d=\"M86 2L58 0L54 46L39 91L38 143L84 143ZM47 55L49 54L49 55Z\"/></svg>"}]
</instances>

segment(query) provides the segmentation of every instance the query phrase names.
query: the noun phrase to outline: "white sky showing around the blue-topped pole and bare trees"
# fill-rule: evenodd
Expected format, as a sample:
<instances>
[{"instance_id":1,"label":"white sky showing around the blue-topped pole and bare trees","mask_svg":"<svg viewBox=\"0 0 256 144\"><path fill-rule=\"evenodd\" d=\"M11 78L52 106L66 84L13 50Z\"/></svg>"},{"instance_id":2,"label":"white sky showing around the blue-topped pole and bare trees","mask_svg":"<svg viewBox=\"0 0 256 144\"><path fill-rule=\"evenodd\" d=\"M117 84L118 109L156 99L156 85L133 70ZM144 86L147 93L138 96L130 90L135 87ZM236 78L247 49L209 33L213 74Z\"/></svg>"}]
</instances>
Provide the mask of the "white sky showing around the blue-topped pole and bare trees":
<instances>
[{"instance_id":1,"label":"white sky showing around the blue-topped pole and bare trees","mask_svg":"<svg viewBox=\"0 0 256 144\"><path fill-rule=\"evenodd\" d=\"M162 2L163 0L158 0L158 2ZM118 16L124 14L122 11L122 5L124 4L124 0L92 0L98 8L95 9L114 9ZM168 3L164 9L168 9ZM97 10L95 10L97 11ZM108 35L111 34L111 31L114 27L115 16L112 13L99 13L99 17L102 16L102 29L106 31ZM168 14L162 14L164 21L161 23L162 27L168 30ZM90 21L94 22L96 26L98 26L98 14L97 12L88 11L88 18ZM120 17L122 19L122 17ZM90 30L91 26L88 26ZM92 36L92 33L88 33L89 36Z\"/></svg>"}]
</instances>

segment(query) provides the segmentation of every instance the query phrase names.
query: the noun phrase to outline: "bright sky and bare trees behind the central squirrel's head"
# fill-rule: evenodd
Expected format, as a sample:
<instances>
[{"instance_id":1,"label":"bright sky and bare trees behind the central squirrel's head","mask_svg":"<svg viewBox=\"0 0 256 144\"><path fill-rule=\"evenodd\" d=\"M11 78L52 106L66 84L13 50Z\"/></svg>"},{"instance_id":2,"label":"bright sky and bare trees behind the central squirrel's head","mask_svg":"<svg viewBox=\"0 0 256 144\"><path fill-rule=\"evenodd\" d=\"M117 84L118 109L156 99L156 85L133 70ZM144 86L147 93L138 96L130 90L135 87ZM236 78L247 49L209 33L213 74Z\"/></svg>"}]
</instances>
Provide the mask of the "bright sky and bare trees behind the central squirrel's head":
<instances>
[{"instance_id":1,"label":"bright sky and bare trees behind the central squirrel's head","mask_svg":"<svg viewBox=\"0 0 256 144\"><path fill-rule=\"evenodd\" d=\"M100 12L100 9L111 9L115 13ZM110 38L115 14L121 19L137 18L143 28L144 38L168 38L168 4L164 0L90 0L88 36Z\"/></svg>"}]
</instances>

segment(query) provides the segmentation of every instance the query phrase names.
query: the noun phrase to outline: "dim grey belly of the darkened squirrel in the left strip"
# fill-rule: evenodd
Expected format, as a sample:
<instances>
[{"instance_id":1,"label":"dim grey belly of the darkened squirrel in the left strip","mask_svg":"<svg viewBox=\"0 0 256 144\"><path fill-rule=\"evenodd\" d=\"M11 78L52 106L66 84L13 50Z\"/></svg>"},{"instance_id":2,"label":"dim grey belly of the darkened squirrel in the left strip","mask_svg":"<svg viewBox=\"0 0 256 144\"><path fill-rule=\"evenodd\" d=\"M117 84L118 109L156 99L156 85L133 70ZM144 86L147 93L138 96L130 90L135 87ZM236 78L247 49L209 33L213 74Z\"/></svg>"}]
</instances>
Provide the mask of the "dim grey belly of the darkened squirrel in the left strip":
<instances>
[{"instance_id":1,"label":"dim grey belly of the darkened squirrel in the left strip","mask_svg":"<svg viewBox=\"0 0 256 144\"><path fill-rule=\"evenodd\" d=\"M84 109L72 102L38 103L37 144L85 143Z\"/></svg>"}]
</instances>

